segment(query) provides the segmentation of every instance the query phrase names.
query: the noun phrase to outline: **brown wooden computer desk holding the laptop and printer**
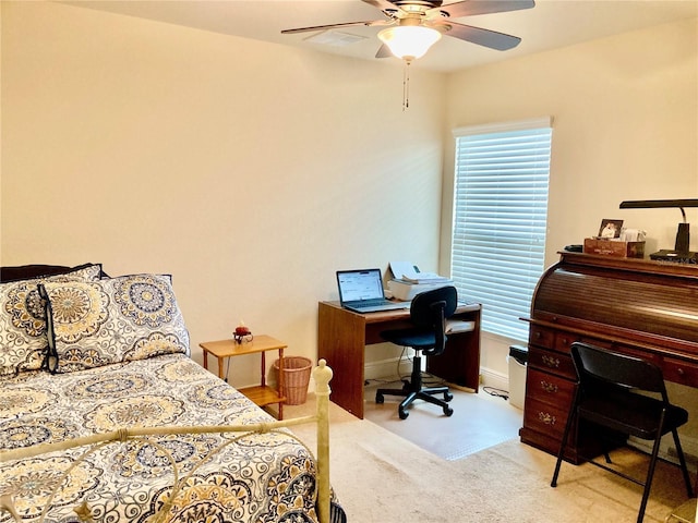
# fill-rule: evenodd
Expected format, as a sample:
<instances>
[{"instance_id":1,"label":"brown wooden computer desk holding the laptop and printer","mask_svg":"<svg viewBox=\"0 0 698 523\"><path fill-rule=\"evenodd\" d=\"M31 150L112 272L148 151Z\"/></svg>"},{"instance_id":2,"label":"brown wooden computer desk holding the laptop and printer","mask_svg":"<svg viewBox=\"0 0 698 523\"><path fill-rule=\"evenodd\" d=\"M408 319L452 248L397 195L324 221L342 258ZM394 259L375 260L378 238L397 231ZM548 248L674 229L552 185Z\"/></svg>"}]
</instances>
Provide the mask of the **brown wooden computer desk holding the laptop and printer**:
<instances>
[{"instance_id":1,"label":"brown wooden computer desk holding the laptop and printer","mask_svg":"<svg viewBox=\"0 0 698 523\"><path fill-rule=\"evenodd\" d=\"M449 335L444 354L426 360L428 372L474 392L480 384L480 311L479 303L459 303L454 319L474 321L474 329ZM335 372L333 402L363 418L365 346L383 343L382 330L409 327L409 309L358 314L339 302L320 302L317 352Z\"/></svg>"}]
</instances>

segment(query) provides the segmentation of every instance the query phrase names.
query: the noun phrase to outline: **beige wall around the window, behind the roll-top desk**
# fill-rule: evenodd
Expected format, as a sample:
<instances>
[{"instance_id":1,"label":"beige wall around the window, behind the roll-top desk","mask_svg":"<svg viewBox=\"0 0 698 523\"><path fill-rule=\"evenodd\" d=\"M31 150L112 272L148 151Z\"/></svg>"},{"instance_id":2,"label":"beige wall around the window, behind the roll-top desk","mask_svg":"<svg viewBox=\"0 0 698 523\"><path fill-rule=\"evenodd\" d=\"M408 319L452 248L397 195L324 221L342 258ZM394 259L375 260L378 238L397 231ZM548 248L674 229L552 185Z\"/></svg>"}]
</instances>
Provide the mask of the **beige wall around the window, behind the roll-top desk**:
<instances>
[{"instance_id":1,"label":"beige wall around the window, behind the roll-top desk","mask_svg":"<svg viewBox=\"0 0 698 523\"><path fill-rule=\"evenodd\" d=\"M546 265L603 218L672 248L678 209L619 210L626 199L698 195L698 20L626 33L447 78L442 269L453 212L452 130L552 115ZM686 209L698 251L698 209ZM512 340L483 338L483 366L506 374Z\"/></svg>"}]
</instances>

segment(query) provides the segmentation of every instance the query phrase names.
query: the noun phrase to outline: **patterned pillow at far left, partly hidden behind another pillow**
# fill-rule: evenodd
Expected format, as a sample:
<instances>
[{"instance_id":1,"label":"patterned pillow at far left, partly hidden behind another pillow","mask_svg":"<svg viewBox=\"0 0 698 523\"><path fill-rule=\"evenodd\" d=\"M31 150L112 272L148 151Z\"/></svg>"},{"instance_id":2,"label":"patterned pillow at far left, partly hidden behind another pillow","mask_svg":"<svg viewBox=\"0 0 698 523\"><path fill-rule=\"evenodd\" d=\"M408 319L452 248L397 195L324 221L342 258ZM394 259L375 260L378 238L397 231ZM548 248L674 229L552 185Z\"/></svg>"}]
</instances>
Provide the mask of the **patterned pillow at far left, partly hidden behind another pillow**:
<instances>
[{"instance_id":1,"label":"patterned pillow at far left, partly hidden behind another pillow","mask_svg":"<svg viewBox=\"0 0 698 523\"><path fill-rule=\"evenodd\" d=\"M48 349L45 304L37 284L47 281L94 281L95 264L59 276L0 283L0 375L37 370Z\"/></svg>"}]
</instances>

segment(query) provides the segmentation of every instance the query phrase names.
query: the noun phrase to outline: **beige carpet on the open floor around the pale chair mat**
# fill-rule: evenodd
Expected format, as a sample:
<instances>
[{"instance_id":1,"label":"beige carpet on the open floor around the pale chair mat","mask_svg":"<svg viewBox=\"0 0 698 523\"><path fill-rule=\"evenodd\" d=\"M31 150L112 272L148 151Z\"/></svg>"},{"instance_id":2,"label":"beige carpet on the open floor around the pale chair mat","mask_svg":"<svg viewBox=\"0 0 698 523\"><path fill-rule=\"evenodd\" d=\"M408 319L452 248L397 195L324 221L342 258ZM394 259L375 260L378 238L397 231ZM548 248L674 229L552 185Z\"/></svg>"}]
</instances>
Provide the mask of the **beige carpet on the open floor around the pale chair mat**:
<instances>
[{"instance_id":1,"label":"beige carpet on the open floor around the pale chair mat","mask_svg":"<svg viewBox=\"0 0 698 523\"><path fill-rule=\"evenodd\" d=\"M288 406L287 417L312 412L314 398ZM314 427L293 431L313 448ZM586 464L563 464L509 440L446 461L369 419L330 406L330 476L350 523L633 523L641 489ZM635 455L635 454L630 454ZM621 457L623 461L630 461ZM681 474L660 464L647 523L663 522L686 499Z\"/></svg>"}]
</instances>

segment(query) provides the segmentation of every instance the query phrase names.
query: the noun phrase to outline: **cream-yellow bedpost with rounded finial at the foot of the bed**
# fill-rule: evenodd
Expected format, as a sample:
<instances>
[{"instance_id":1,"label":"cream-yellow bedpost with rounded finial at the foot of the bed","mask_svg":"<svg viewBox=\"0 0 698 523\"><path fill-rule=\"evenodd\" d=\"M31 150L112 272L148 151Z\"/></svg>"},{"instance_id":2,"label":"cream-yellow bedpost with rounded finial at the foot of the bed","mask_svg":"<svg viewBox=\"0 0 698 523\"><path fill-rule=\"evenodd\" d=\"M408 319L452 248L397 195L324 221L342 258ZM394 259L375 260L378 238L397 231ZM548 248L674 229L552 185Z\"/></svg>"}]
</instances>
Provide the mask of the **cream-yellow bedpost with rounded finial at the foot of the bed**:
<instances>
[{"instance_id":1,"label":"cream-yellow bedpost with rounded finial at the foot of the bed","mask_svg":"<svg viewBox=\"0 0 698 523\"><path fill-rule=\"evenodd\" d=\"M325 360L313 369L317 398L317 507L321 523L329 523L329 380L332 368Z\"/></svg>"}]
</instances>

